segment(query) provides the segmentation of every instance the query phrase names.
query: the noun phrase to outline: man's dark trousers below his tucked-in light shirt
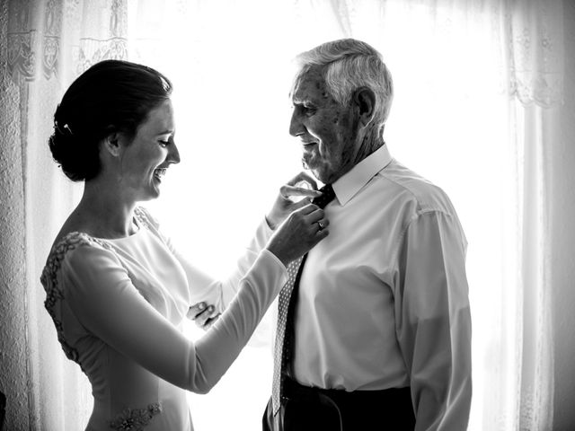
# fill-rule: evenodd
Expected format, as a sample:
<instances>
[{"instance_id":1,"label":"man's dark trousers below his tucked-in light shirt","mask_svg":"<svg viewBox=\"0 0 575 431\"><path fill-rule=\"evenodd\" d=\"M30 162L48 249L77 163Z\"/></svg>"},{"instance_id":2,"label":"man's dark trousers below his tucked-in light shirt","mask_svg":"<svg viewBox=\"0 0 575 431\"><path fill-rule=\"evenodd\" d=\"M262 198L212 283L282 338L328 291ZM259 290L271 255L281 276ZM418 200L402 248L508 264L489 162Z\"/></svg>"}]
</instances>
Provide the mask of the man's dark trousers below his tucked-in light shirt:
<instances>
[{"instance_id":1,"label":"man's dark trousers below his tucked-in light shirt","mask_svg":"<svg viewBox=\"0 0 575 431\"><path fill-rule=\"evenodd\" d=\"M341 391L284 383L284 399L274 417L271 399L263 431L412 431L415 416L410 388Z\"/></svg>"}]
</instances>

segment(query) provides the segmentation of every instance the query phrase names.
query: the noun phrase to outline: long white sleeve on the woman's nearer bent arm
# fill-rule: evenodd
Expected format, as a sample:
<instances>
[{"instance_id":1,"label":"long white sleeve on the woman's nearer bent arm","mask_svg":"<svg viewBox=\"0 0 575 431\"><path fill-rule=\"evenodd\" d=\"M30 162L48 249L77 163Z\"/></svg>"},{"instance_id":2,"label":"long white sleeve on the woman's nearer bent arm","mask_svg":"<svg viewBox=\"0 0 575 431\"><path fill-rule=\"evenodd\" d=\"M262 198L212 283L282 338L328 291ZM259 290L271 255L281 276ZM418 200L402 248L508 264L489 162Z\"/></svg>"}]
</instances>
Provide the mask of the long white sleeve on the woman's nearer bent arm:
<instances>
[{"instance_id":1,"label":"long white sleeve on the woman's nearer bent arm","mask_svg":"<svg viewBox=\"0 0 575 431\"><path fill-rule=\"evenodd\" d=\"M227 311L194 344L146 302L113 252L78 246L60 270L66 301L86 330L164 380L199 393L234 362L286 280L279 259L261 251Z\"/></svg>"}]
</instances>

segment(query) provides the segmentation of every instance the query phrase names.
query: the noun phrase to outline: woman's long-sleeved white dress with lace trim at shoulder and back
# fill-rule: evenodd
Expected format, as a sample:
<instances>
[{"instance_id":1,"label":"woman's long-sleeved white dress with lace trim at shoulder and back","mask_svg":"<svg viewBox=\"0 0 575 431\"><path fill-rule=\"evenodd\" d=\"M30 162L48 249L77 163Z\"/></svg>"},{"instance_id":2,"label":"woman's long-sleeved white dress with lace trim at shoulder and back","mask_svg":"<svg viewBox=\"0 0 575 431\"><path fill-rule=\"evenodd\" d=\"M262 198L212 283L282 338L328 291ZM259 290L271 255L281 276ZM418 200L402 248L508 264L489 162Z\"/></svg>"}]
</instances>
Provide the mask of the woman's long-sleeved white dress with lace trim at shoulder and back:
<instances>
[{"instance_id":1,"label":"woman's long-sleeved white dress with lace trim at shoulder and back","mask_svg":"<svg viewBox=\"0 0 575 431\"><path fill-rule=\"evenodd\" d=\"M142 208L136 221L127 238L69 233L58 242L41 277L46 308L66 356L92 383L87 430L191 430L185 390L217 383L286 282L286 268L262 250L265 224L234 274L217 282L181 259ZM200 300L220 311L229 305L193 343L181 326Z\"/></svg>"}]
</instances>

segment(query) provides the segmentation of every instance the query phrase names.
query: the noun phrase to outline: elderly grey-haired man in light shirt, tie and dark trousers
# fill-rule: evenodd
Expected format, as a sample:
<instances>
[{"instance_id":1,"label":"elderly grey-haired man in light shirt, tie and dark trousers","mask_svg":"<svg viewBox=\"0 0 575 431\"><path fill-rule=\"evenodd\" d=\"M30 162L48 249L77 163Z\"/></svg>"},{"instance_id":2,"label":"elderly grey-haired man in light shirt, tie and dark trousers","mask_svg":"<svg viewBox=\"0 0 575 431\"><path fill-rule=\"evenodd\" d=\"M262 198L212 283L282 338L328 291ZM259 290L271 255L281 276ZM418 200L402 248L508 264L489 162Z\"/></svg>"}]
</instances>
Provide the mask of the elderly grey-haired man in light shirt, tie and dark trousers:
<instances>
[{"instance_id":1,"label":"elderly grey-haired man in light shirt, tie and dark trousers","mask_svg":"<svg viewBox=\"0 0 575 431\"><path fill-rule=\"evenodd\" d=\"M471 318L456 211L390 155L393 84L376 49L335 40L297 60L289 133L326 185L330 235L288 268L263 428L464 430Z\"/></svg>"}]
</instances>

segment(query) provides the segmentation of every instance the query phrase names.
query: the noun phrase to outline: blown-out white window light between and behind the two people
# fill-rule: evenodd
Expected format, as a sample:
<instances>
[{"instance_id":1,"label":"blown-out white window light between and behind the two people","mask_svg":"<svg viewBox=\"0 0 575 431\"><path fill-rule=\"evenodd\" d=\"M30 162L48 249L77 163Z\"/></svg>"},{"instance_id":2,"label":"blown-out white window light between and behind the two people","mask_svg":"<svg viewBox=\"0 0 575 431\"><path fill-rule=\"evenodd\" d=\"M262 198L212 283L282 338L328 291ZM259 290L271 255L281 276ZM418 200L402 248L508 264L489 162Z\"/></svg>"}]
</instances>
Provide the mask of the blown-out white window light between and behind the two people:
<instances>
[{"instance_id":1,"label":"blown-out white window light between and behind the two people","mask_svg":"<svg viewBox=\"0 0 575 431\"><path fill-rule=\"evenodd\" d=\"M340 39L341 25L327 14L298 15L294 2L144 3L134 2L128 14L130 59L173 80L181 152L161 198L148 207L190 261L226 277L279 186L301 170L299 144L288 135L290 59ZM365 22L355 22L354 37L378 48L394 76L385 128L391 154L445 189L464 226L473 313L469 429L487 429L483 389L500 324L494 298L508 277L504 208L515 155L499 48L485 37L489 20L481 13L458 20L453 10L432 15L404 2L389 2L386 13L393 19L385 25L381 16L355 17ZM193 324L189 331L201 335ZM213 391L190 394L195 427L257 429L271 367L270 348L245 348Z\"/></svg>"}]
</instances>

